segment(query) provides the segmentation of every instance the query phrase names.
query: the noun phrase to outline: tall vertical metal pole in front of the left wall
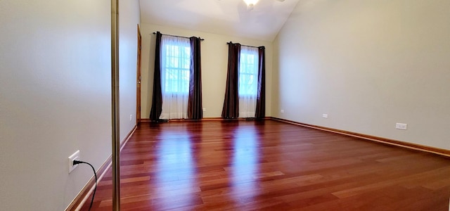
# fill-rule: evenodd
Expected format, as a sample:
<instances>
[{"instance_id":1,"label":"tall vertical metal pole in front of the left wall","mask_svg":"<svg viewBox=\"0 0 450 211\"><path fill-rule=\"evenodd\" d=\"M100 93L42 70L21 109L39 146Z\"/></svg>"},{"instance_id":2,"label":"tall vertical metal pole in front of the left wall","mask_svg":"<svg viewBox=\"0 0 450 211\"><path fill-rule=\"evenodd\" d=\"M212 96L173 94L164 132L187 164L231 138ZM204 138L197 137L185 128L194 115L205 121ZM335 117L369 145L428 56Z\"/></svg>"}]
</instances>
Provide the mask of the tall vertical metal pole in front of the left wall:
<instances>
[{"instance_id":1,"label":"tall vertical metal pole in front of the left wall","mask_svg":"<svg viewBox=\"0 0 450 211\"><path fill-rule=\"evenodd\" d=\"M111 120L113 210L120 210L119 0L111 0Z\"/></svg>"}]
</instances>

